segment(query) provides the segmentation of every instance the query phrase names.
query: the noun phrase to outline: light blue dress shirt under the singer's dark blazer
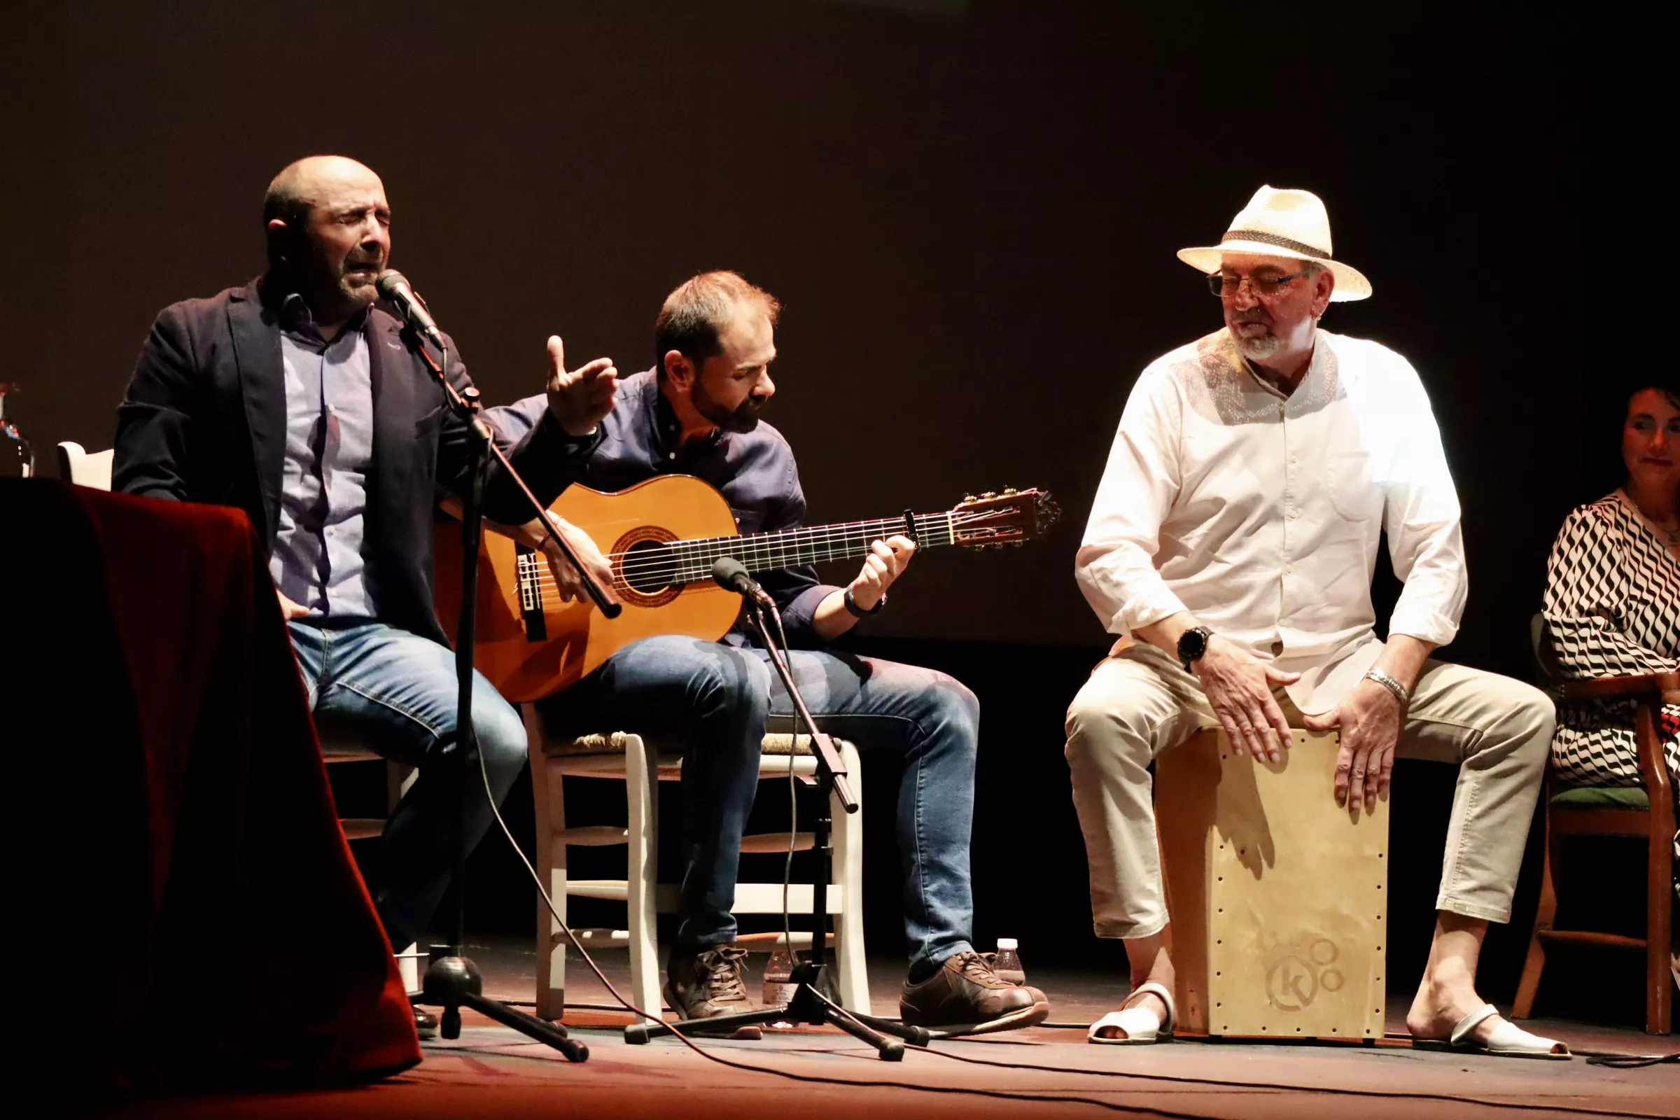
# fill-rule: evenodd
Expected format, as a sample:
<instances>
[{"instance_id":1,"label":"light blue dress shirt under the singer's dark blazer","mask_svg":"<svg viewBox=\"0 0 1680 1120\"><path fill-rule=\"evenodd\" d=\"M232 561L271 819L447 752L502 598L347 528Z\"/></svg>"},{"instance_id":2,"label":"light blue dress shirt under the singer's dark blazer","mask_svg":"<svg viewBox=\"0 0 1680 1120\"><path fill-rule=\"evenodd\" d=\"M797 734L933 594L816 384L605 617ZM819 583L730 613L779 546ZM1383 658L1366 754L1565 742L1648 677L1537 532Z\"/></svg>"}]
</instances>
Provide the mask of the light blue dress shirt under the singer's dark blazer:
<instances>
[{"instance_id":1,"label":"light blue dress shirt under the singer's dark blazer","mask_svg":"<svg viewBox=\"0 0 1680 1120\"><path fill-rule=\"evenodd\" d=\"M365 546L373 463L373 371L366 317L328 343L309 307L281 312L286 472L269 573L311 618L375 618Z\"/></svg>"}]
</instances>

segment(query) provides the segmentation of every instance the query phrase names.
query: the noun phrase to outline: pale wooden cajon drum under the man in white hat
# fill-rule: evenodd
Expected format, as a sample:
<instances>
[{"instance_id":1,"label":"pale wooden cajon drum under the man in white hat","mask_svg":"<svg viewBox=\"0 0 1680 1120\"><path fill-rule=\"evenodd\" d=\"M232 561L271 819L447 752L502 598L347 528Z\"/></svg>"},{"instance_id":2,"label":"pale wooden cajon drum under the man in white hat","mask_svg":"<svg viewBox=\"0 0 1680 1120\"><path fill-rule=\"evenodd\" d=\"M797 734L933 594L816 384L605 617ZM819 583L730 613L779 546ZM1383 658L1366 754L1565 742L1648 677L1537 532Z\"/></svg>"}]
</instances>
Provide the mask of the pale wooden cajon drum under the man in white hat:
<instances>
[{"instance_id":1,"label":"pale wooden cajon drum under the man in white hat","mask_svg":"<svg viewBox=\"0 0 1680 1120\"><path fill-rule=\"evenodd\" d=\"M1383 1038L1388 803L1342 809L1341 735L1277 764L1205 730L1156 759L1156 823L1184 1033Z\"/></svg>"}]
</instances>

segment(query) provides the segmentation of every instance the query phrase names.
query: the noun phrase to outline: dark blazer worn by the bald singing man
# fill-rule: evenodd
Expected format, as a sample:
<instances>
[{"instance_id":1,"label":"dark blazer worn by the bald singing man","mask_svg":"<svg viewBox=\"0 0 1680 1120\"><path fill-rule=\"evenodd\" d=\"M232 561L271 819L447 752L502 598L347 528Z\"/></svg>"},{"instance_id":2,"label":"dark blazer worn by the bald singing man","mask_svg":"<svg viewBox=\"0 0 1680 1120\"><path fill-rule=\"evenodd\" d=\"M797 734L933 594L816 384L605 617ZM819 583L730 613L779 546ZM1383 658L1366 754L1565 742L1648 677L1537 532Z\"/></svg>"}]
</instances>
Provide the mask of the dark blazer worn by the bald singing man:
<instances>
[{"instance_id":1,"label":"dark blazer worn by the bald singing man","mask_svg":"<svg viewBox=\"0 0 1680 1120\"><path fill-rule=\"evenodd\" d=\"M118 408L111 485L126 494L235 505L269 554L279 529L286 458L286 374L279 301L264 282L188 299L158 314ZM432 613L432 521L438 490L460 494L469 433L444 406L444 390L375 307L368 316L373 378L373 465L363 549L380 620L445 641ZM449 379L470 385L449 349ZM544 505L583 470L600 435L571 438L544 415L509 458ZM516 485L492 460L484 516L531 519Z\"/></svg>"}]
</instances>

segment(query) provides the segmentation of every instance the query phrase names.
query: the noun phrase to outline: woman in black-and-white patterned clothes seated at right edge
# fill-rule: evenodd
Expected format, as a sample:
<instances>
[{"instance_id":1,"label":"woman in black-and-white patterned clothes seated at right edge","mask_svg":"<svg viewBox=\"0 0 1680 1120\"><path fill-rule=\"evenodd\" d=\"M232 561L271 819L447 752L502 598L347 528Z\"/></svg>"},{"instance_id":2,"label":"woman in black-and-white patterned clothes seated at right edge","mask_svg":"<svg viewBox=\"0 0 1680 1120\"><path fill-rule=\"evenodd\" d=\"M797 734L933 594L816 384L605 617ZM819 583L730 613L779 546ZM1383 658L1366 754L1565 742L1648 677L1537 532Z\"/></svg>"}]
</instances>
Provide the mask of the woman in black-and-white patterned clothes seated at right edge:
<instances>
[{"instance_id":1,"label":"woman in black-and-white patterned clothes seated at right edge","mask_svg":"<svg viewBox=\"0 0 1680 1120\"><path fill-rule=\"evenodd\" d=\"M1680 670L1680 390L1645 388L1628 400L1621 458L1628 480L1569 514L1547 566L1546 631L1564 677ZM1635 705L1561 707L1554 772L1572 786L1641 784ZM1660 734L1680 789L1680 705L1663 707Z\"/></svg>"}]
</instances>

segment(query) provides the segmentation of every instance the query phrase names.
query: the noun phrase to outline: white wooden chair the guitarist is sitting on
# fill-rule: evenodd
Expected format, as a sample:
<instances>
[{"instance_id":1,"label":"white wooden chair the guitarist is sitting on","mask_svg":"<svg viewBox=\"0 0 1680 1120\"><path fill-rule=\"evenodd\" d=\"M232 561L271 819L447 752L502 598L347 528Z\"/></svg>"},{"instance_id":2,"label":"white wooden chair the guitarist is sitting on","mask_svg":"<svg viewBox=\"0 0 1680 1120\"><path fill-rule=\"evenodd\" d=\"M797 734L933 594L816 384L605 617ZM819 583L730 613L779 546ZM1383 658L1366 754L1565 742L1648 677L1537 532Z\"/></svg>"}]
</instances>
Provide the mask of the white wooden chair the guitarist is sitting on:
<instances>
[{"instance_id":1,"label":"white wooden chair the guitarist is sitting on","mask_svg":"<svg viewBox=\"0 0 1680 1120\"><path fill-rule=\"evenodd\" d=\"M648 744L642 735L612 732L601 735L549 735L536 705L526 704L526 734L531 744L531 784L536 793L536 855L538 873L548 887L554 908L566 915L566 898L608 898L623 902L628 912L628 929L578 929L573 934L591 952L598 947L628 947L630 997L647 1011L662 1006L657 915L675 913L677 885L659 882L659 782L682 777L682 752L675 744ZM862 789L857 747L835 739L835 747L852 774L853 793ZM758 776L783 779L788 776L788 756L793 754L793 772L811 776L816 759L810 752L810 737L764 735ZM566 777L606 777L625 782L628 826L596 824L566 828ZM864 955L864 813L845 813L838 803L830 806L833 818L833 882L828 888L828 913L835 915L830 939L830 964L840 1002L870 1014L869 972ZM800 851L810 850L811 833L798 833L793 840ZM566 873L566 848L625 845L628 870L622 880L573 880ZM776 853L788 850L786 833L746 836L743 853ZM788 912L811 912L811 885L798 875L788 892ZM781 913L781 878L774 883L736 883L734 913ZM536 1014L559 1019L566 1006L566 935L559 932L548 907L538 898L538 976ZM771 934L746 934L738 939L744 949L769 950L783 944L781 930ZM793 947L810 945L810 935L793 934Z\"/></svg>"}]
</instances>

